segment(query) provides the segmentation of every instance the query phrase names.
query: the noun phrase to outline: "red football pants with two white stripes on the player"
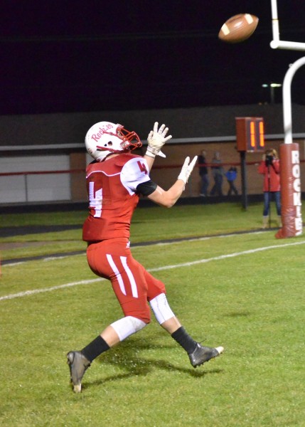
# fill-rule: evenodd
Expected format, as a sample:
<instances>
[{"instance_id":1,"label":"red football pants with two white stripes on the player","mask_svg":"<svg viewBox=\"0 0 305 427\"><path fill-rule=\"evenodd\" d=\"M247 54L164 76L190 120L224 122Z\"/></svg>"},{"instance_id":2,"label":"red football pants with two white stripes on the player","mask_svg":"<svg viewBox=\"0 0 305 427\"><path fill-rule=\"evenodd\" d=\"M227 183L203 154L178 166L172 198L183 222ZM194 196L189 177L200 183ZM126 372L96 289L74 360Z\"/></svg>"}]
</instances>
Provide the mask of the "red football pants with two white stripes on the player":
<instances>
[{"instance_id":1,"label":"red football pants with two white stripes on the player","mask_svg":"<svg viewBox=\"0 0 305 427\"><path fill-rule=\"evenodd\" d=\"M113 238L87 247L87 261L96 275L109 279L125 316L151 320L147 301L166 293L165 285L132 256L124 238Z\"/></svg>"}]
</instances>

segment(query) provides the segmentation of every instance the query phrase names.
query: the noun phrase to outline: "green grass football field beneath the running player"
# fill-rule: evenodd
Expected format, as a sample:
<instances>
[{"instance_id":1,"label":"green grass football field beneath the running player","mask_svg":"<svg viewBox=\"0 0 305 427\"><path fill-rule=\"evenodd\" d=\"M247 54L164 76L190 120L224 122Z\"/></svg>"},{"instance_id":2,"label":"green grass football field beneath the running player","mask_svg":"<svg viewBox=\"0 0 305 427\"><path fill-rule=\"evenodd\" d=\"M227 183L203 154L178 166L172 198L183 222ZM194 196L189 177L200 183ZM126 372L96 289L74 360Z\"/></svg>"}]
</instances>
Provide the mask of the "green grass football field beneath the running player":
<instances>
[{"instance_id":1,"label":"green grass football field beneath the running player","mask_svg":"<svg viewBox=\"0 0 305 427\"><path fill-rule=\"evenodd\" d=\"M134 257L164 280L186 330L225 352L193 369L153 318L97 358L73 394L65 354L122 316L87 267L85 215L1 218L80 228L0 238L2 260L25 258L1 268L0 426L305 426L305 236L259 231L260 204L136 211L132 243L151 244ZM154 243L177 238L189 239ZM56 253L66 256L26 260Z\"/></svg>"}]
</instances>

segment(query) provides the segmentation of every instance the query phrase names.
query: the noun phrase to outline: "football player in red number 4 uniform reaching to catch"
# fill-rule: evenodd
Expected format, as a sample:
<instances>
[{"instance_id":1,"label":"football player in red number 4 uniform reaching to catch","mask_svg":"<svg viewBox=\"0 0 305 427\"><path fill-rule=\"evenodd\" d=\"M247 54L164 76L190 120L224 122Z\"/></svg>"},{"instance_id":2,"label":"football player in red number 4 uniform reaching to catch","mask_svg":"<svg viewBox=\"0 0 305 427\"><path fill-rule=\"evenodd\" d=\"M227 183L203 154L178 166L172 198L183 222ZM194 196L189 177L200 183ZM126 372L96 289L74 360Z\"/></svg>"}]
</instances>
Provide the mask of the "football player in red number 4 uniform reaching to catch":
<instances>
[{"instance_id":1,"label":"football player in red number 4 uniform reaching to catch","mask_svg":"<svg viewBox=\"0 0 305 427\"><path fill-rule=\"evenodd\" d=\"M161 327L186 351L193 367L223 352L223 347L201 346L186 332L168 305L164 283L148 273L129 248L129 228L139 195L161 206L173 206L196 164L197 156L191 162L186 157L178 179L167 191L150 179L156 155L165 157L161 148L171 139L167 133L168 127L154 123L144 157L132 154L141 147L141 141L136 132L122 125L98 122L85 137L87 152L94 159L87 167L89 216L82 230L87 262L96 275L110 280L124 317L108 325L82 350L68 352L76 393L81 391L82 376L96 357L149 324L149 305Z\"/></svg>"}]
</instances>

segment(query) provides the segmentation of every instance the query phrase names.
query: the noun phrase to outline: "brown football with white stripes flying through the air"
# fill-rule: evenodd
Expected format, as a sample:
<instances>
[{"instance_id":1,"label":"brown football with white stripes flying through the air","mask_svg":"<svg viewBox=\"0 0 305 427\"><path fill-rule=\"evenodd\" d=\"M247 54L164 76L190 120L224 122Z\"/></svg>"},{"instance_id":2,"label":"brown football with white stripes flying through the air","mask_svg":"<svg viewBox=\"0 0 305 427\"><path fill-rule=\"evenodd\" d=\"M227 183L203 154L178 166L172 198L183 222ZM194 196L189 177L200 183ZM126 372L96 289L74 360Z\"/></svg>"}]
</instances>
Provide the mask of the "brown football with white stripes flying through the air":
<instances>
[{"instance_id":1,"label":"brown football with white stripes flying through the air","mask_svg":"<svg viewBox=\"0 0 305 427\"><path fill-rule=\"evenodd\" d=\"M251 14L238 14L225 21L218 37L227 43L240 43L247 40L257 28L258 18Z\"/></svg>"}]
</instances>

